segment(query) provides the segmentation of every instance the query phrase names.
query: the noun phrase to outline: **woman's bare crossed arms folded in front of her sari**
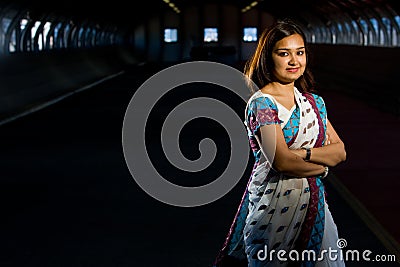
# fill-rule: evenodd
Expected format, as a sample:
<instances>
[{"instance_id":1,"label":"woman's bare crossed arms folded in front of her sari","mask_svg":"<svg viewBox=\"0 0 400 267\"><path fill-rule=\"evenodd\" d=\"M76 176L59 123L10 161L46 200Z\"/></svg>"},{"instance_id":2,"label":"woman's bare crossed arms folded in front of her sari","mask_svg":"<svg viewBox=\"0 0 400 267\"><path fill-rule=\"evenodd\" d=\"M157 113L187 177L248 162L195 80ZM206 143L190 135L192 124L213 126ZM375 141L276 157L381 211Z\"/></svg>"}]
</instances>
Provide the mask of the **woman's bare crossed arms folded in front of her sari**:
<instances>
[{"instance_id":1,"label":"woman's bare crossed arms folded in front of her sari","mask_svg":"<svg viewBox=\"0 0 400 267\"><path fill-rule=\"evenodd\" d=\"M261 140L275 138L275 146L270 144L271 142L261 141L263 151L270 160L272 159L273 167L288 176L320 175L324 173L325 166L333 167L346 159L344 143L329 121L327 121L327 141L324 146L311 149L309 161L304 161L306 156L304 149L288 148L279 124L261 126L260 133Z\"/></svg>"}]
</instances>

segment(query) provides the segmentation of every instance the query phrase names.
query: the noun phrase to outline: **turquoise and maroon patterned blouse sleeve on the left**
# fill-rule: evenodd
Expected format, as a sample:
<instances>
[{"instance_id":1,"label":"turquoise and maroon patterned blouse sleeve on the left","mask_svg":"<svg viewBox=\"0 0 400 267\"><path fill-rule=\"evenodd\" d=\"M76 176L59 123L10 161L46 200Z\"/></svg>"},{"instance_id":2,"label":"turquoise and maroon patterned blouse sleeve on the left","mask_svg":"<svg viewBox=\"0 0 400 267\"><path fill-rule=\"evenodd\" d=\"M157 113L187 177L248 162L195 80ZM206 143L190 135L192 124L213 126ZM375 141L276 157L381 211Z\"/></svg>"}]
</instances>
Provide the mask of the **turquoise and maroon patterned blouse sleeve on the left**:
<instances>
[{"instance_id":1,"label":"turquoise and maroon patterned blouse sleeve on the left","mask_svg":"<svg viewBox=\"0 0 400 267\"><path fill-rule=\"evenodd\" d=\"M276 104L268 97L253 98L247 109L248 126L253 134L263 125L280 124Z\"/></svg>"}]
</instances>

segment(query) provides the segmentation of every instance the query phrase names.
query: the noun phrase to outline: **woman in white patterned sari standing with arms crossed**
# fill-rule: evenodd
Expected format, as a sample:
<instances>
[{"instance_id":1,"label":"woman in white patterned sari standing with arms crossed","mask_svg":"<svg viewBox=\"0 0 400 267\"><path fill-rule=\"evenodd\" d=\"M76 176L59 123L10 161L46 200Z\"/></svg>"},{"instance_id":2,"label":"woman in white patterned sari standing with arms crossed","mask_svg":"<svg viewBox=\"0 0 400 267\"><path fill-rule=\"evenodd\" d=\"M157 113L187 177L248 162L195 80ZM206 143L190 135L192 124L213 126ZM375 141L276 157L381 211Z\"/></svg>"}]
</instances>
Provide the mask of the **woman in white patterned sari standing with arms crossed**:
<instances>
[{"instance_id":1,"label":"woman in white patterned sari standing with arms crossed","mask_svg":"<svg viewBox=\"0 0 400 267\"><path fill-rule=\"evenodd\" d=\"M307 59L303 31L278 21L246 63L245 75L260 88L245 118L255 164L214 266L345 266L321 180L346 152L311 91ZM329 248L339 259L324 254Z\"/></svg>"}]
</instances>

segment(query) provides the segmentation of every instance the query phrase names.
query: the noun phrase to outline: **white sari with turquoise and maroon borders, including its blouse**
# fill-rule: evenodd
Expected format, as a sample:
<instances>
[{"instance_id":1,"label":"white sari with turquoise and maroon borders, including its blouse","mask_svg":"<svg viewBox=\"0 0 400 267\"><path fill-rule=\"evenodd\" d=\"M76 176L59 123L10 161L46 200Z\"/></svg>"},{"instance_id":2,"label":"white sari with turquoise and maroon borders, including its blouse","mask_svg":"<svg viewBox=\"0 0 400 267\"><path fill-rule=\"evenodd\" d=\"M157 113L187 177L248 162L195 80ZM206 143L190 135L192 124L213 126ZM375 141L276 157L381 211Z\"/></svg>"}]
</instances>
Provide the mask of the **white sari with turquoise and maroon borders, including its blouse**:
<instances>
[{"instance_id":1,"label":"white sari with turquoise and maroon borders, including its blouse","mask_svg":"<svg viewBox=\"0 0 400 267\"><path fill-rule=\"evenodd\" d=\"M323 98L297 88L294 95L291 110L260 90L247 103L244 124L255 163L214 267L345 265L339 257L338 232L322 177L285 176L272 167L259 142L261 126L280 124L290 149L324 145L327 112ZM329 248L338 251L339 259L319 257ZM280 251L280 257L272 251Z\"/></svg>"}]
</instances>

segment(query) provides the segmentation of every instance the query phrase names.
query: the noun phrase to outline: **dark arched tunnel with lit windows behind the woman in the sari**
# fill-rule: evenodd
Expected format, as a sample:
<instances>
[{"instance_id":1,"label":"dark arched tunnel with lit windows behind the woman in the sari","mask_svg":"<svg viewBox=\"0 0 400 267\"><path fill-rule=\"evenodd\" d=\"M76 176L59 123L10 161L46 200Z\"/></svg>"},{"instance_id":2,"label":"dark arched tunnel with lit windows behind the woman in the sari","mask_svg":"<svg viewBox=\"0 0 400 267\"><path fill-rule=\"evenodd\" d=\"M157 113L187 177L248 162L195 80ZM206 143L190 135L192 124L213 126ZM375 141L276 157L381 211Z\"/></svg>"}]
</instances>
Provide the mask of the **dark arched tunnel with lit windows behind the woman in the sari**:
<instances>
[{"instance_id":1,"label":"dark arched tunnel with lit windows behind the woman in the sari","mask_svg":"<svg viewBox=\"0 0 400 267\"><path fill-rule=\"evenodd\" d=\"M344 249L369 251L346 266L399 266L399 3L0 1L0 266L213 266L254 160L195 194L243 141L246 103L223 85L281 19L303 29L346 146L322 180Z\"/></svg>"}]
</instances>

